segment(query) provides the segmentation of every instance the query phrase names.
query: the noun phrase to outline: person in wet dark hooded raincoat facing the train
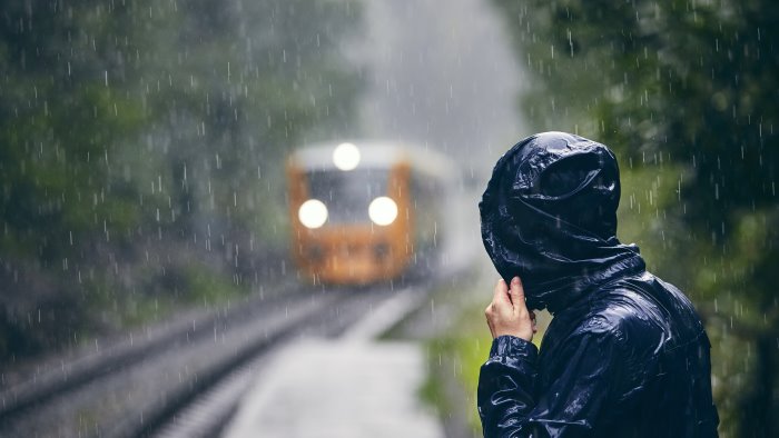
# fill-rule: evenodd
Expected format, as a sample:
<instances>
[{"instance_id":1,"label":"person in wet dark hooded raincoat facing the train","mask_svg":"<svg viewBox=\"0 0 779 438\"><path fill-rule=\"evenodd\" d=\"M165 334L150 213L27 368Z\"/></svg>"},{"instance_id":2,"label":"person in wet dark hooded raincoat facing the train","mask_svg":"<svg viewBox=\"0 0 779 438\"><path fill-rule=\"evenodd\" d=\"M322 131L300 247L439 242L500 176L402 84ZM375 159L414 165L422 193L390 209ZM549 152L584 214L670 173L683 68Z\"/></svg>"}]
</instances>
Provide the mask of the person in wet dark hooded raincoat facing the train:
<instances>
[{"instance_id":1,"label":"person in wet dark hooded raincoat facing the train","mask_svg":"<svg viewBox=\"0 0 779 438\"><path fill-rule=\"evenodd\" d=\"M485 312L485 437L717 436L709 339L687 297L617 239L619 199L614 155L579 136L531 136L495 165L479 205L502 277Z\"/></svg>"}]
</instances>

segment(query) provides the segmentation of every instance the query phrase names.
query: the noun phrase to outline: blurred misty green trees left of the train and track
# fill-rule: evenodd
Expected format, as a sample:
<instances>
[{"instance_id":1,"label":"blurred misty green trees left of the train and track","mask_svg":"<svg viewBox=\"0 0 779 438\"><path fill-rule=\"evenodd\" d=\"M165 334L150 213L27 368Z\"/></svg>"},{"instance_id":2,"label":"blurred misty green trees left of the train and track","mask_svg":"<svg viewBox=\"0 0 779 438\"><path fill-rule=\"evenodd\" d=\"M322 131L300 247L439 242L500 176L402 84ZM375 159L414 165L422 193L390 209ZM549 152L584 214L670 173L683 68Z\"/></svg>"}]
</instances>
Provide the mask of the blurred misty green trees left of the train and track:
<instances>
[{"instance_id":1,"label":"blurred misty green trees left of the train and track","mask_svg":"<svg viewBox=\"0 0 779 438\"><path fill-rule=\"evenodd\" d=\"M3 2L0 361L267 277L285 155L353 116L357 6Z\"/></svg>"}]
</instances>

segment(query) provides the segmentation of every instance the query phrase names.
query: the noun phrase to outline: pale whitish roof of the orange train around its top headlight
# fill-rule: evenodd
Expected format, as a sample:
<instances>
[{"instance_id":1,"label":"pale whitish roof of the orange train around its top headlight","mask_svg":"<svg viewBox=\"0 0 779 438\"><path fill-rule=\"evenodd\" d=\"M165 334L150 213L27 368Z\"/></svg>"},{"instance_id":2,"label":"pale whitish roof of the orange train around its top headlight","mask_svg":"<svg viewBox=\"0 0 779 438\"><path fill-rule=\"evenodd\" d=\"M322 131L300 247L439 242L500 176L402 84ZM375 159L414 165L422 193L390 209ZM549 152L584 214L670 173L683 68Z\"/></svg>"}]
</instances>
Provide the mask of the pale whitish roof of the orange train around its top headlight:
<instances>
[{"instance_id":1,"label":"pale whitish roof of the orange train around its top headlight","mask_svg":"<svg viewBox=\"0 0 779 438\"><path fill-rule=\"evenodd\" d=\"M359 150L358 168L389 168L401 162L408 163L413 169L442 179L454 175L455 165L441 152L424 146L410 145L385 140L344 140L317 142L300 147L290 155L296 166L309 170L337 170L333 159L335 148L343 143L352 143Z\"/></svg>"}]
</instances>

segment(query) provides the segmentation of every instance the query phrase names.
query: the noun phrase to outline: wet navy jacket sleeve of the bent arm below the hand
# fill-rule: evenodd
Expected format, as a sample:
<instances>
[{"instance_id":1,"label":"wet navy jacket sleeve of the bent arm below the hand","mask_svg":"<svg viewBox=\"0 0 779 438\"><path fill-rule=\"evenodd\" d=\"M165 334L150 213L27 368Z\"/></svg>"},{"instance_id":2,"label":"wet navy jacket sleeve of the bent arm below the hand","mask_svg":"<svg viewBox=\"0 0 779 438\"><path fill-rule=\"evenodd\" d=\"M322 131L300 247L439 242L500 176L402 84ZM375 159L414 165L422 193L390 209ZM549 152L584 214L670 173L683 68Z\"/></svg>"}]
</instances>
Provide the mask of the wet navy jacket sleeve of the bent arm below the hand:
<instances>
[{"instance_id":1,"label":"wet navy jacket sleeve of the bent arm below the hand","mask_svg":"<svg viewBox=\"0 0 779 438\"><path fill-rule=\"evenodd\" d=\"M484 436L592 437L595 425L608 429L623 387L619 364L629 360L620 338L614 332L573 336L555 348L551 369L542 370L536 370L535 346L496 338L479 380Z\"/></svg>"}]
</instances>

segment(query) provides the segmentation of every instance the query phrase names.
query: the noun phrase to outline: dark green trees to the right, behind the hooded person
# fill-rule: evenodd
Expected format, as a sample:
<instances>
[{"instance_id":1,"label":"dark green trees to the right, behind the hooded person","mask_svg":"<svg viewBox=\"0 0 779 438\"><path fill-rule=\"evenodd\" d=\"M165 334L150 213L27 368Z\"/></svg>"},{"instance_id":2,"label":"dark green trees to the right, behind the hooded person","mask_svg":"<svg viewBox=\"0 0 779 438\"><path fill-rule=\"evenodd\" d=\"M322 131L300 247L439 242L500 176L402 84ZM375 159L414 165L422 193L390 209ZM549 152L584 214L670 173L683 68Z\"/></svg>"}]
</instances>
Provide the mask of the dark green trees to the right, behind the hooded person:
<instances>
[{"instance_id":1,"label":"dark green trees to the right, behind the hooded person","mask_svg":"<svg viewBox=\"0 0 779 438\"><path fill-rule=\"evenodd\" d=\"M533 128L579 131L621 157L621 233L707 319L721 431L775 434L779 6L494 3L533 78L522 99ZM630 193L641 213L625 210Z\"/></svg>"}]
</instances>

